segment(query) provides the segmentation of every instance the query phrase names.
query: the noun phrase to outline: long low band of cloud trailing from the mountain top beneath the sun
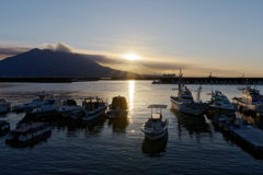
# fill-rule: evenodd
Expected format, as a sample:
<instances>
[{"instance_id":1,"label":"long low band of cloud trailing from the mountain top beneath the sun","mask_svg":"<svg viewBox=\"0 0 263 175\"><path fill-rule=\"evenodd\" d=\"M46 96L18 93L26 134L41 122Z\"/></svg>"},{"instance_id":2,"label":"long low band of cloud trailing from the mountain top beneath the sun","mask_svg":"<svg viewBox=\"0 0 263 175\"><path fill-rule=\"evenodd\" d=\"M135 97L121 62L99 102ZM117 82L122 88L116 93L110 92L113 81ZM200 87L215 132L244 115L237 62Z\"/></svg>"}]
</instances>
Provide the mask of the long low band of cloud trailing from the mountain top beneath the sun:
<instances>
[{"instance_id":1,"label":"long low band of cloud trailing from the mountain top beneath the sun","mask_svg":"<svg viewBox=\"0 0 263 175\"><path fill-rule=\"evenodd\" d=\"M229 70L227 68L218 68L218 66L210 66L207 62L186 62L185 60L181 61L173 59L141 59L136 61L129 61L121 58L119 55L112 52L72 49L70 46L61 42L55 45L44 44L44 47L54 51L77 52L102 66L123 71L133 71L139 74L162 74L163 72L172 73L174 71L176 73L179 68L182 68L183 70L185 70L185 72L188 72L188 75L204 75L208 74L209 72L221 75L233 75L235 73L239 73L237 69ZM7 57L12 57L28 51L32 48L33 47L0 46L0 60Z\"/></svg>"}]
</instances>

